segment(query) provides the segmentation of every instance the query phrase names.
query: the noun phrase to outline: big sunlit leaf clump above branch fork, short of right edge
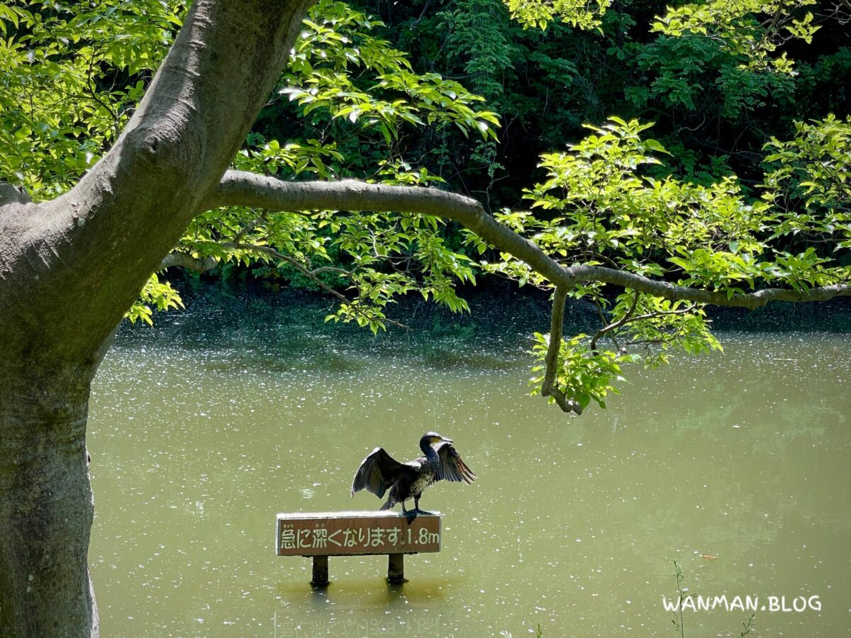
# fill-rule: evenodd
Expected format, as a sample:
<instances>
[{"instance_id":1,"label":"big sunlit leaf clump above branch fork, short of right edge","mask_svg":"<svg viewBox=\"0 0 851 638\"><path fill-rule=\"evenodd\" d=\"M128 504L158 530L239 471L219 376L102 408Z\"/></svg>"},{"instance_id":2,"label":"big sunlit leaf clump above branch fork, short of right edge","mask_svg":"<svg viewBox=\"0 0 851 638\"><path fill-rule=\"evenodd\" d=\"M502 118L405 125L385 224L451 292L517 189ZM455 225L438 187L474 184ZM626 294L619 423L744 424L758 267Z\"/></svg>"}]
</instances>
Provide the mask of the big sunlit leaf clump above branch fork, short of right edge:
<instances>
[{"instance_id":1,"label":"big sunlit leaf clump above branch fork, short of right edge","mask_svg":"<svg viewBox=\"0 0 851 638\"><path fill-rule=\"evenodd\" d=\"M569 151L542 157L547 179L526 191L532 217L517 211L498 219L565 264L606 264L642 273L667 270L675 249L759 251L755 234L764 204L745 202L734 179L711 187L651 177L666 151L643 139L648 124L613 118Z\"/></svg>"}]
</instances>

